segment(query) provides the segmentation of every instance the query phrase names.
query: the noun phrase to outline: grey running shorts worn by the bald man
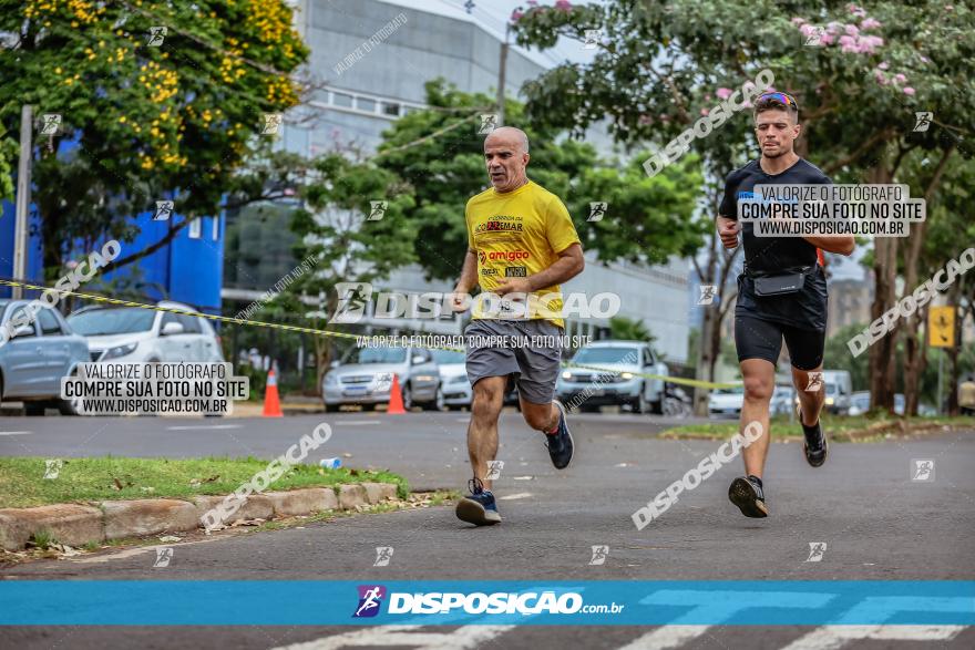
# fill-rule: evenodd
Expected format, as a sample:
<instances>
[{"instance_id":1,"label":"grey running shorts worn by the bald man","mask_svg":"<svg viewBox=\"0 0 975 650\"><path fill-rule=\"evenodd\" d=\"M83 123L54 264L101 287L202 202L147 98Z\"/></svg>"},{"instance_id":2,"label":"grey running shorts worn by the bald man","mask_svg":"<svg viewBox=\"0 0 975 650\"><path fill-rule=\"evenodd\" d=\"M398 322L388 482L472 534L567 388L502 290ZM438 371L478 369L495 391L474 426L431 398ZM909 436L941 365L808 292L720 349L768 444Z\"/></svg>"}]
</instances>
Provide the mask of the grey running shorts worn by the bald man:
<instances>
[{"instance_id":1,"label":"grey running shorts worn by the bald man","mask_svg":"<svg viewBox=\"0 0 975 650\"><path fill-rule=\"evenodd\" d=\"M561 370L562 334L561 327L544 319L474 319L464 330L471 385L485 376L509 376L525 401L550 403Z\"/></svg>"}]
</instances>

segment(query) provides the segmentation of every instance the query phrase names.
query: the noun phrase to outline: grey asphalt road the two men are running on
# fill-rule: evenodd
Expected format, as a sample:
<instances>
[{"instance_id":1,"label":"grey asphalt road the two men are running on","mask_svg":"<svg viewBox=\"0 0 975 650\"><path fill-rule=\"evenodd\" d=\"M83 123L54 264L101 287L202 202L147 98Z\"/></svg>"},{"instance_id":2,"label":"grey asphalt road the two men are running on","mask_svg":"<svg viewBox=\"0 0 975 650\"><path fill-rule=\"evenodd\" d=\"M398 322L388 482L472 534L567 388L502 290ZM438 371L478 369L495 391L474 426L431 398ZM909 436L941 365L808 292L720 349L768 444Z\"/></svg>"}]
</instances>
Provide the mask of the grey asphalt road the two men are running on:
<instances>
[{"instance_id":1,"label":"grey asphalt road the two men are running on","mask_svg":"<svg viewBox=\"0 0 975 650\"><path fill-rule=\"evenodd\" d=\"M464 413L314 414L278 420L4 417L0 455L273 457L319 422L335 434L321 456L389 467L414 488L461 488L469 477ZM973 579L975 432L875 444L834 444L809 467L798 444L773 444L766 476L771 517L746 519L727 501L739 462L685 493L637 530L636 508L718 443L657 440L660 419L576 415L577 455L555 471L516 413L502 419L495 493L504 523L472 528L438 507L340 518L304 528L177 544L171 565L154 548L37 561L6 579L540 579L950 580ZM175 429L174 429L175 427ZM14 433L21 432L21 433ZM28 432L28 433L22 433ZM912 461L935 461L934 481L911 481ZM810 543L825 543L807 561ZM602 566L592 546L609 547ZM389 566L373 567L377 546ZM945 626L854 628L504 626L368 629L310 627L9 628L0 647L33 648L971 648L975 630Z\"/></svg>"}]
</instances>

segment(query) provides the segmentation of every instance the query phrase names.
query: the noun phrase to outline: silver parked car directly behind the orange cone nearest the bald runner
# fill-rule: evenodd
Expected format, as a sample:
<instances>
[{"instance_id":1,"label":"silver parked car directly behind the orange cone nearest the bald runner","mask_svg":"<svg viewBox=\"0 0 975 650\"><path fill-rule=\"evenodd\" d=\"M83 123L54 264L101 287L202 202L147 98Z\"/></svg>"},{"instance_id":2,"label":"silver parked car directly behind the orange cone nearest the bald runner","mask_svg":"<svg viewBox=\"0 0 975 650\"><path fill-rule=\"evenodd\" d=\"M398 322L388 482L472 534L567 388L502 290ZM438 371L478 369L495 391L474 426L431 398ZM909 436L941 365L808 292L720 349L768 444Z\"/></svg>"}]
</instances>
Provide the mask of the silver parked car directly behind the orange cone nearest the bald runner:
<instances>
[{"instance_id":1,"label":"silver parked car directly behind the orange cone nearest the bald runner","mask_svg":"<svg viewBox=\"0 0 975 650\"><path fill-rule=\"evenodd\" d=\"M428 350L421 348L361 348L352 363L332 368L321 385L326 411L342 404L361 404L367 411L389 402L393 374L399 375L403 406L443 409L440 372Z\"/></svg>"}]
</instances>

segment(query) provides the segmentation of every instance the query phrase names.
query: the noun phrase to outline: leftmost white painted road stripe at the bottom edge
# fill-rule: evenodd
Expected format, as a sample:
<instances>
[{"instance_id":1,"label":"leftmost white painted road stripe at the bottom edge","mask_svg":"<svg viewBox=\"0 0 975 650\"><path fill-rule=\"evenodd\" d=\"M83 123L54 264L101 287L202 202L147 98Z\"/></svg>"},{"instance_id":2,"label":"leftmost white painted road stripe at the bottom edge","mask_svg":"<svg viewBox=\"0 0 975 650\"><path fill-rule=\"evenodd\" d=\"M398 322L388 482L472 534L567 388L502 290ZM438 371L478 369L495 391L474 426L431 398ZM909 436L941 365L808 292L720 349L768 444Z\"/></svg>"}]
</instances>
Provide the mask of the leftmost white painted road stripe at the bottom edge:
<instances>
[{"instance_id":1,"label":"leftmost white painted road stripe at the bottom edge","mask_svg":"<svg viewBox=\"0 0 975 650\"><path fill-rule=\"evenodd\" d=\"M346 647L403 646L419 650L466 650L478 648L515 626L464 626L453 632L412 632L425 626L377 626L343 634L324 637L274 650L338 650Z\"/></svg>"}]
</instances>

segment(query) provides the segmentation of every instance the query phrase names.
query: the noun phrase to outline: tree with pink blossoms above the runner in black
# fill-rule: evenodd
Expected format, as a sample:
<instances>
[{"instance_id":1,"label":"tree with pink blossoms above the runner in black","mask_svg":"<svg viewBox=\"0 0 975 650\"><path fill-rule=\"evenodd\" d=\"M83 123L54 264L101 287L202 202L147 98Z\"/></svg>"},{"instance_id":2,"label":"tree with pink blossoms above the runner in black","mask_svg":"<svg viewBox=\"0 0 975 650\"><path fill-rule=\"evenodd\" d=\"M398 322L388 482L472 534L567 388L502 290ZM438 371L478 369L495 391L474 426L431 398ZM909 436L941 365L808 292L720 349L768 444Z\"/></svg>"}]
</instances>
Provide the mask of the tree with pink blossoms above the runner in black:
<instances>
[{"instance_id":1,"label":"tree with pink blossoms above the runner in black","mask_svg":"<svg viewBox=\"0 0 975 650\"><path fill-rule=\"evenodd\" d=\"M975 12L967 3L607 0L567 10L534 3L516 14L512 29L526 47L551 48L560 37L583 41L586 30L602 30L591 63L566 62L523 89L533 120L576 134L606 123L622 143L661 147L770 69L776 89L802 110L798 153L838 183L910 183L912 196L937 200L938 193L958 192L941 184L946 166L975 153ZM924 132L914 131L920 111L934 113ZM705 219L716 213L725 175L758 156L751 128L742 111L692 143L711 179L702 192ZM931 164L907 172L917 155ZM923 237L923 226L912 227L912 238ZM874 318L895 302L899 264L916 265L918 246L873 241ZM716 260L720 255L712 249L698 269L701 281L715 283L730 261ZM719 342L723 312L715 309L710 338ZM719 348L708 350L708 334L701 350L714 358ZM870 349L875 406L893 406L895 338Z\"/></svg>"}]
</instances>

